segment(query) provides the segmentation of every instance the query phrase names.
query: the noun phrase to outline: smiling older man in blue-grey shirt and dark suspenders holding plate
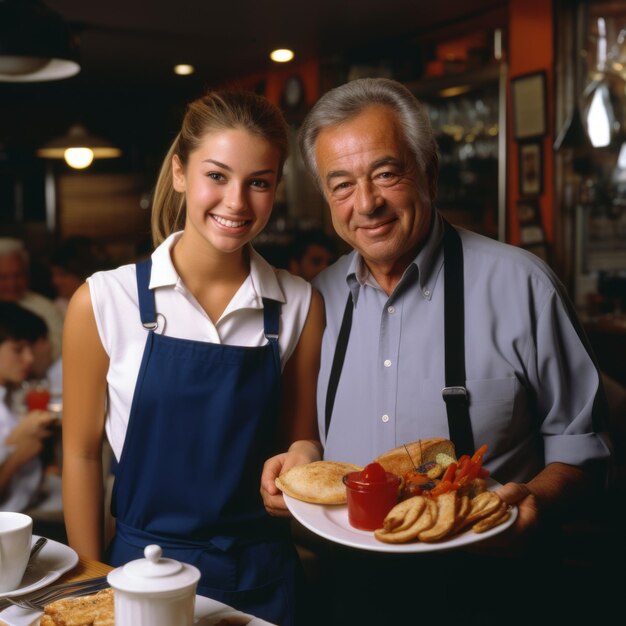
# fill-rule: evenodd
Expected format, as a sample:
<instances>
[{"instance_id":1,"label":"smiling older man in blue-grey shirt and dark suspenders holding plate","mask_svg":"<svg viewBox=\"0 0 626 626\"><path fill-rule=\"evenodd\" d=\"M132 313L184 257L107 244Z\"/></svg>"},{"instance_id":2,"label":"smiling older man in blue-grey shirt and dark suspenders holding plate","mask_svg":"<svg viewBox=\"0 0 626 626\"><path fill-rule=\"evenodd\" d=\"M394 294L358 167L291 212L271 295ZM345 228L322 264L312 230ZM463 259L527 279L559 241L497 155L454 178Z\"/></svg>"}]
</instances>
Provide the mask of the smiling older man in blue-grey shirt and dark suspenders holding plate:
<instances>
[{"instance_id":1,"label":"smiling older man in blue-grey shirt and dark suspenders holding plate","mask_svg":"<svg viewBox=\"0 0 626 626\"><path fill-rule=\"evenodd\" d=\"M455 229L434 208L437 149L419 102L385 79L342 85L308 115L301 149L335 230L354 248L314 281L327 317L318 382L324 457L364 465L428 437L452 439L459 453L487 444L499 493L519 510L502 540L509 544L591 493L610 452L600 376L579 324L544 263ZM287 453L266 465L262 490L275 514L284 505L272 479L298 462ZM413 571L416 600L426 602L429 588L452 580L457 591L476 588L477 571L429 579L423 570L433 563L424 559L353 554L340 564L350 560L356 565L340 570L349 593L367 598L365 622L355 623L402 617L393 602L373 603L384 578L398 584ZM354 617L356 602L343 603L339 621Z\"/></svg>"}]
</instances>

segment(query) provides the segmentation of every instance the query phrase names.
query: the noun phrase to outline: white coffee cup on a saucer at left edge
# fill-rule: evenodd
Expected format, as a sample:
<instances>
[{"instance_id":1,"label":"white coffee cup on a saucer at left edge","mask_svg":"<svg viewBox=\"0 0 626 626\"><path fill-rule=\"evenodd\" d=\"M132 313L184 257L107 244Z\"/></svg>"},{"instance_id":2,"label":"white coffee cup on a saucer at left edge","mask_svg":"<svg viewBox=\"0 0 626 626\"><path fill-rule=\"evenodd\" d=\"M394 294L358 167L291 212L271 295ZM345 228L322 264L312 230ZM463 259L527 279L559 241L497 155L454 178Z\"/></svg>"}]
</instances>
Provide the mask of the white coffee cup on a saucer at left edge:
<instances>
[{"instance_id":1,"label":"white coffee cup on a saucer at left edge","mask_svg":"<svg viewBox=\"0 0 626 626\"><path fill-rule=\"evenodd\" d=\"M28 565L32 536L31 517L0 511L0 593L20 586Z\"/></svg>"}]
</instances>

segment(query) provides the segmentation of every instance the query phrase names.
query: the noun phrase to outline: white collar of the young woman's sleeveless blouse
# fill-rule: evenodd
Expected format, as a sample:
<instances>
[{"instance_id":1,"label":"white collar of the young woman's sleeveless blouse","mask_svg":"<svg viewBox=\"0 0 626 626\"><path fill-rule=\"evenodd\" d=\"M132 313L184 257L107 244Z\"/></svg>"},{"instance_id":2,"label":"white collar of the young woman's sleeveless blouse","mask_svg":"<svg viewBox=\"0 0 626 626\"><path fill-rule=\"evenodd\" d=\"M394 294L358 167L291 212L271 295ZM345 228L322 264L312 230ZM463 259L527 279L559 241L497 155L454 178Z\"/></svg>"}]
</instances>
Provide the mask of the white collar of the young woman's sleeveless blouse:
<instances>
[{"instance_id":1,"label":"white collar of the young woman's sleeveless blouse","mask_svg":"<svg viewBox=\"0 0 626 626\"><path fill-rule=\"evenodd\" d=\"M172 262L171 250L182 232L172 233L152 253L150 289L174 287L180 281L180 276ZM246 281L250 281L252 288L245 290L248 293L245 298L247 302L240 302L239 304L260 308L263 306L263 298L284 303L286 298L276 277L276 270L251 245L248 246L248 250L250 252L250 274Z\"/></svg>"}]
</instances>

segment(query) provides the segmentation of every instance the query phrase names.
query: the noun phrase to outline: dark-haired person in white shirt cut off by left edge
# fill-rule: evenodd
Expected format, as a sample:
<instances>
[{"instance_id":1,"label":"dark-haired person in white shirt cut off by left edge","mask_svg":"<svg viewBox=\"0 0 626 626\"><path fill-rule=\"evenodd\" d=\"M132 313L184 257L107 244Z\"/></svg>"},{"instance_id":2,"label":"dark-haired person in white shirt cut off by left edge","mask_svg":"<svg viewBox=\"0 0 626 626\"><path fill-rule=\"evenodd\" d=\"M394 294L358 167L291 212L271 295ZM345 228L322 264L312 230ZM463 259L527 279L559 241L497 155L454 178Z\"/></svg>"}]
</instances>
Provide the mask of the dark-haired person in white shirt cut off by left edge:
<instances>
[{"instance_id":1,"label":"dark-haired person in white shirt cut off by left edge","mask_svg":"<svg viewBox=\"0 0 626 626\"><path fill-rule=\"evenodd\" d=\"M39 316L0 302L0 511L25 511L43 497L39 456L51 435L52 418L41 410L20 418L10 408L10 394L28 376L32 345L46 332Z\"/></svg>"}]
</instances>

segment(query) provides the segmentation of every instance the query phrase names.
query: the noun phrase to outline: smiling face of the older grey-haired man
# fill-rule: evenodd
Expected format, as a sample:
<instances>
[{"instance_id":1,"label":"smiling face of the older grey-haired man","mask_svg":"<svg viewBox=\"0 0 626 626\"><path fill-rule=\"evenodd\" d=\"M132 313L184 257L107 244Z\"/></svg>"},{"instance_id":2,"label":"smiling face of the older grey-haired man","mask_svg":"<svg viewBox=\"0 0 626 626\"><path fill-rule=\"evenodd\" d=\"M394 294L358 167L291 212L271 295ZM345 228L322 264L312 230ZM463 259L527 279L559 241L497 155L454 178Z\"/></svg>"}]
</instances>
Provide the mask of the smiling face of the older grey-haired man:
<instances>
[{"instance_id":1,"label":"smiling face of the older grey-haired man","mask_svg":"<svg viewBox=\"0 0 626 626\"><path fill-rule=\"evenodd\" d=\"M401 274L428 233L431 207L393 111L371 106L326 128L315 157L337 234L375 275Z\"/></svg>"}]
</instances>

